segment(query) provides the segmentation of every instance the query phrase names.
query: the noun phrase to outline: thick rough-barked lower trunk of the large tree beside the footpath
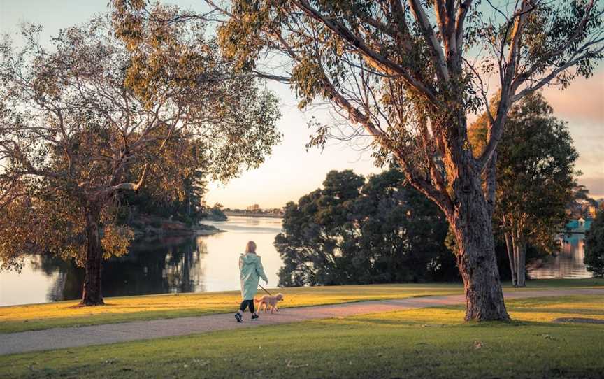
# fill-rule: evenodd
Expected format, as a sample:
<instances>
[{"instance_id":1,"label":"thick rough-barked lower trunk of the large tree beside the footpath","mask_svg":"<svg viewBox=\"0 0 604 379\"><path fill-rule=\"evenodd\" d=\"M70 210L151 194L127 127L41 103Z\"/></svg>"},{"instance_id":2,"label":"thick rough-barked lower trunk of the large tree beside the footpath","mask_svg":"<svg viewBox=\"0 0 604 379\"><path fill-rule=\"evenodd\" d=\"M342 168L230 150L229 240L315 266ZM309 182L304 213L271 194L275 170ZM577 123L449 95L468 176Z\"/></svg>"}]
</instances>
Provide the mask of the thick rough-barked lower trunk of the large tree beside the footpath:
<instances>
[{"instance_id":1,"label":"thick rough-barked lower trunk of the large tree beside the footpath","mask_svg":"<svg viewBox=\"0 0 604 379\"><path fill-rule=\"evenodd\" d=\"M458 166L450 222L458 244L457 265L466 294L466 320L510 320L497 270L492 220L480 174ZM466 166L467 167L467 166ZM468 170L470 171L470 170Z\"/></svg>"}]
</instances>

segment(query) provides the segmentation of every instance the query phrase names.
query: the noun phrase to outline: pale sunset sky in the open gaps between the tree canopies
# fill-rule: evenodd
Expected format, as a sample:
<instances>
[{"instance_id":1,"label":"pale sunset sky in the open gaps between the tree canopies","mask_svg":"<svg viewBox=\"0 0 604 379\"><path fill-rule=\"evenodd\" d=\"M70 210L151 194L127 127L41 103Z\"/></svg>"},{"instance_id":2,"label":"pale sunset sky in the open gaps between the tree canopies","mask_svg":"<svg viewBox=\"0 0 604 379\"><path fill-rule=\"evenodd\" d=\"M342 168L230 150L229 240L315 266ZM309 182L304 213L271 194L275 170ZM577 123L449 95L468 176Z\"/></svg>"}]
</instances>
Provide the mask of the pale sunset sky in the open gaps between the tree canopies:
<instances>
[{"instance_id":1,"label":"pale sunset sky in the open gaps between the tree canopies","mask_svg":"<svg viewBox=\"0 0 604 379\"><path fill-rule=\"evenodd\" d=\"M185 8L201 10L203 1L171 1ZM0 0L0 29L15 35L20 22L35 22L44 27L43 39L49 39L63 27L85 22L95 13L106 11L108 0ZM271 157L258 169L243 173L227 184L210 183L207 202L220 202L231 208L245 208L258 203L264 208L280 208L287 201L321 186L330 170L353 169L364 175L377 173L371 152L359 145L328 143L323 151L307 152L305 143L311 134L307 121L315 115L329 122L329 110L303 113L287 85L268 83L280 98L282 118L278 127L282 143L275 146ZM547 87L545 97L554 108L554 115L568 122L580 157L576 168L583 172L579 182L586 185L591 196L604 197L604 64L588 80L577 79L561 91Z\"/></svg>"}]
</instances>

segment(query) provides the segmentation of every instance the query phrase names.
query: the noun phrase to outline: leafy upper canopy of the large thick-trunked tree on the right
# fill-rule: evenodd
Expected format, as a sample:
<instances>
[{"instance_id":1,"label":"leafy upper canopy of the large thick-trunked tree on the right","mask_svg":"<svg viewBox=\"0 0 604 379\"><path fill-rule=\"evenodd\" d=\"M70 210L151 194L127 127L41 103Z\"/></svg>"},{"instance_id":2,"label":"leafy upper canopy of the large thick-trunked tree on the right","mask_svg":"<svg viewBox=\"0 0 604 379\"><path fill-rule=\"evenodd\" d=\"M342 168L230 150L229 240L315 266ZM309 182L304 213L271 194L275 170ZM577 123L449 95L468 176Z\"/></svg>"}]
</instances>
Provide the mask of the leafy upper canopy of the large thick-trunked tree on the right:
<instances>
[{"instance_id":1,"label":"leafy upper canopy of the large thick-trunked tree on the right","mask_svg":"<svg viewBox=\"0 0 604 379\"><path fill-rule=\"evenodd\" d=\"M443 4L447 12L457 17L468 10L465 22L454 26L463 27L463 31L454 31L461 43L457 51L447 50L452 46L442 34L450 33L448 27L430 20L430 27L441 34L438 48L444 50L452 75L449 83L438 80L438 64L411 6L366 0L233 0L227 4L228 17L217 28L217 43L224 55L236 62L235 68L262 69L265 54L278 53L300 108L326 99L352 123L364 121L355 120L349 106L379 124L389 140L388 144L380 141L373 145L380 161L396 148L404 148L410 161L413 155L426 153L413 142L415 132L425 122L417 120L417 115L425 115L432 124L447 120L444 128L457 127L465 136L465 124L447 122L458 112L481 113L488 106L482 96L486 89L478 84L479 73L498 76L497 71L504 70L502 57L508 56L520 13L526 13L526 17L522 44L515 58L515 85L526 82L532 86L551 74L548 80L555 79L566 87L577 76L591 76L596 62L603 57L602 8L597 2L592 8L586 1L540 1L531 3L526 12L519 10L518 2L495 4L498 17L483 14L489 8L484 2ZM431 19L436 5L437 2L427 1L420 7ZM480 57L465 59L462 64L460 59L468 52ZM564 69L568 65L577 69ZM394 66L396 69L392 69ZM438 97L436 102L431 100L433 107L426 99L426 91L396 75L403 71ZM511 80L500 84L511 85ZM522 85L514 91L518 88ZM350 104L339 99L339 94ZM317 129L318 134L323 132ZM414 163L423 164L422 160Z\"/></svg>"}]
</instances>

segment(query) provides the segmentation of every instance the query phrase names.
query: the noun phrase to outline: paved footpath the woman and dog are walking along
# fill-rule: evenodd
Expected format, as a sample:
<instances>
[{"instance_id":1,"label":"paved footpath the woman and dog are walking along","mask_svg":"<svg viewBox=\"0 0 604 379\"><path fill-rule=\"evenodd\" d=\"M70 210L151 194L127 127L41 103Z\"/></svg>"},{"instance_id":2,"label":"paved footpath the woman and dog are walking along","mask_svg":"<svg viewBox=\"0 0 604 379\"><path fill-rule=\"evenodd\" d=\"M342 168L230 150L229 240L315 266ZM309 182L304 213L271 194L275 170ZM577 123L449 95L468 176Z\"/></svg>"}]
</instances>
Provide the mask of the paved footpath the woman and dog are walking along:
<instances>
[{"instance_id":1,"label":"paved footpath the woman and dog are walking along","mask_svg":"<svg viewBox=\"0 0 604 379\"><path fill-rule=\"evenodd\" d=\"M543 289L522 290L505 293L506 299L519 299L545 296L569 296L604 294L604 288L597 289ZM92 325L89 327L54 328L38 331L0 334L0 355L75 348L78 346L103 345L125 341L145 340L187 334L206 333L261 325L287 324L307 320L320 320L333 317L366 315L369 313L391 312L435 306L462 305L463 295L426 296L408 299L361 301L328 306L310 306L302 308L282 308L273 315L261 314L260 320L250 322L249 314L245 322L238 324L233 313L206 315L199 317L181 317L164 320L123 322L120 324Z\"/></svg>"}]
</instances>

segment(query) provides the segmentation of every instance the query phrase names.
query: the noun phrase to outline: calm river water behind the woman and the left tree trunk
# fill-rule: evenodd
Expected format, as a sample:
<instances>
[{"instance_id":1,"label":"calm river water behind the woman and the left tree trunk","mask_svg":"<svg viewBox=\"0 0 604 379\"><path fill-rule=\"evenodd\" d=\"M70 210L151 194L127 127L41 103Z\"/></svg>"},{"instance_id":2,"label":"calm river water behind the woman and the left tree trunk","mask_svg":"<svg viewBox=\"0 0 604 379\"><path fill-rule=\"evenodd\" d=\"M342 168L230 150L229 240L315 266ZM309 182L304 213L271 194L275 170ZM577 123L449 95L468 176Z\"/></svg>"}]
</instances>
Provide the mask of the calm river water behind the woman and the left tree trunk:
<instances>
[{"instance_id":1,"label":"calm river water behind the woman and the left tree trunk","mask_svg":"<svg viewBox=\"0 0 604 379\"><path fill-rule=\"evenodd\" d=\"M271 286L282 266L273 247L280 218L231 216L212 224L225 233L136 243L128 255L103 262L103 296L239 289L238 257L255 241ZM21 273L0 272L0 306L79 299L83 271L50 257L26 259Z\"/></svg>"}]
</instances>

